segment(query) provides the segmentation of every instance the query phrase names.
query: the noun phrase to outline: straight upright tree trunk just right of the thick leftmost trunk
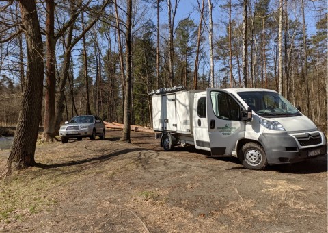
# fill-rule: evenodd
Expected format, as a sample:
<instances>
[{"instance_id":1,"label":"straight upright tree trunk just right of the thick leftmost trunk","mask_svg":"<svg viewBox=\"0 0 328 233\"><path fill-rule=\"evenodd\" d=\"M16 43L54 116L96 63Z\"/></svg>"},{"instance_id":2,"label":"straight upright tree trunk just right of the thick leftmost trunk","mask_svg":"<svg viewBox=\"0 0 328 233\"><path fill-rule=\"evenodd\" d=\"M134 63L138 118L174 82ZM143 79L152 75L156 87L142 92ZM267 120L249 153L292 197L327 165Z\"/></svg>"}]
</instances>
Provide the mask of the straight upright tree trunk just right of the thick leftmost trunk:
<instances>
[{"instance_id":1,"label":"straight upright tree trunk just right of the thick leftmost trunk","mask_svg":"<svg viewBox=\"0 0 328 233\"><path fill-rule=\"evenodd\" d=\"M56 41L55 41L55 3L46 0L46 96L44 101L44 123L42 142L55 138L56 101Z\"/></svg>"}]
</instances>

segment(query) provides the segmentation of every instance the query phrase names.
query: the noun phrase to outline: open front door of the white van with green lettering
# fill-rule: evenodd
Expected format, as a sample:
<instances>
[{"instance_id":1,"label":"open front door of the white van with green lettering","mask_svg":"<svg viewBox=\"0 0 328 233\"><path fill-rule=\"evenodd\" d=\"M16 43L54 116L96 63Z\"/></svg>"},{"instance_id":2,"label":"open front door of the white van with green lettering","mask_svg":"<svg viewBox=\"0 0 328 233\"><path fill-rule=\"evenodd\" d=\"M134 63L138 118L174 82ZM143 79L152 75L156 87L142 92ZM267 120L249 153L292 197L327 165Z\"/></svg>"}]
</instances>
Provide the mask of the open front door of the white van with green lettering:
<instances>
[{"instance_id":1,"label":"open front door of the white van with green lettering","mask_svg":"<svg viewBox=\"0 0 328 233\"><path fill-rule=\"evenodd\" d=\"M212 156L236 156L236 143L245 136L241 105L226 90L207 88L206 97Z\"/></svg>"}]
</instances>

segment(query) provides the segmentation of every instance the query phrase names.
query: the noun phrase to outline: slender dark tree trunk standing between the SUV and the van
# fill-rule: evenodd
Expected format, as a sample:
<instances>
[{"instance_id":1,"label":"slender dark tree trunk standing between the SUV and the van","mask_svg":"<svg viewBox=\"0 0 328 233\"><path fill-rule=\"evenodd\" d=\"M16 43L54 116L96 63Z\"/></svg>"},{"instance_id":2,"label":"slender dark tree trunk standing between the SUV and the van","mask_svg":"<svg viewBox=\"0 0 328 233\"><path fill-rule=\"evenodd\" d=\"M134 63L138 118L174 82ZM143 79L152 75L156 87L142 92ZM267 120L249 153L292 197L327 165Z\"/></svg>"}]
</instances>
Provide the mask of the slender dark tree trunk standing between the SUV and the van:
<instances>
[{"instance_id":1,"label":"slender dark tree trunk standing between the SUV and the van","mask_svg":"<svg viewBox=\"0 0 328 233\"><path fill-rule=\"evenodd\" d=\"M128 8L126 10L126 48L125 48L125 62L126 62L126 92L124 101L124 127L121 141L131 143L130 139L130 125L131 125L131 86L132 86L132 0L128 0Z\"/></svg>"}]
</instances>

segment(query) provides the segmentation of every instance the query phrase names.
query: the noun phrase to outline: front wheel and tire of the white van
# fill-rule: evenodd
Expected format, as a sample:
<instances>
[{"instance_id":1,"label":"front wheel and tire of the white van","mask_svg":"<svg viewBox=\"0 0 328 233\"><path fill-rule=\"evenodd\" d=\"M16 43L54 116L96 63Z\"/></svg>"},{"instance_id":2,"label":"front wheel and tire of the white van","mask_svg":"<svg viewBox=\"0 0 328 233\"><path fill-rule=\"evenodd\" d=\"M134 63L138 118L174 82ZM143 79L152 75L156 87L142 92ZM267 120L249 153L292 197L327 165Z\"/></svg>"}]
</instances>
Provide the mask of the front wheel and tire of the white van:
<instances>
[{"instance_id":1,"label":"front wheel and tire of the white van","mask_svg":"<svg viewBox=\"0 0 328 233\"><path fill-rule=\"evenodd\" d=\"M268 165L267 155L258 143L246 143L239 151L239 160L247 169L263 170Z\"/></svg>"}]
</instances>

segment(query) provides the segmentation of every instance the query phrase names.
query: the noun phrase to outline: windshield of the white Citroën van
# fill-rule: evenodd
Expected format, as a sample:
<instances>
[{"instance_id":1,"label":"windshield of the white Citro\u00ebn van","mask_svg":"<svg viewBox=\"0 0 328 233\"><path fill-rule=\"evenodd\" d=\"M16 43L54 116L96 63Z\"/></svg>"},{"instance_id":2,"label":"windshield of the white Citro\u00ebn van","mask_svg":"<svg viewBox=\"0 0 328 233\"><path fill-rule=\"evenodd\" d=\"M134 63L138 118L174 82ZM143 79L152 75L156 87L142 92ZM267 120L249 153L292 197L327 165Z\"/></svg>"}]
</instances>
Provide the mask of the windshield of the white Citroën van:
<instances>
[{"instance_id":1,"label":"windshield of the white Citro\u00ebn van","mask_svg":"<svg viewBox=\"0 0 328 233\"><path fill-rule=\"evenodd\" d=\"M240 92L238 95L259 116L301 116L301 113L279 93L249 91Z\"/></svg>"}]
</instances>

